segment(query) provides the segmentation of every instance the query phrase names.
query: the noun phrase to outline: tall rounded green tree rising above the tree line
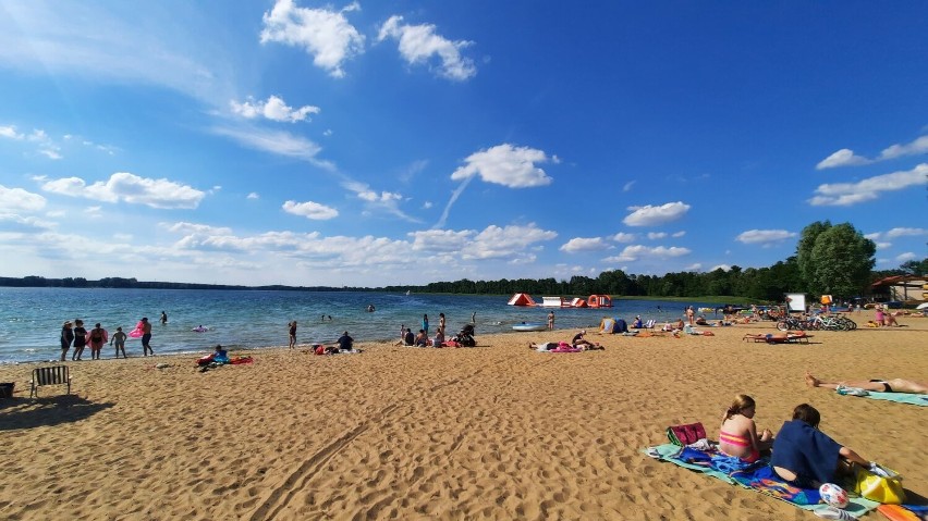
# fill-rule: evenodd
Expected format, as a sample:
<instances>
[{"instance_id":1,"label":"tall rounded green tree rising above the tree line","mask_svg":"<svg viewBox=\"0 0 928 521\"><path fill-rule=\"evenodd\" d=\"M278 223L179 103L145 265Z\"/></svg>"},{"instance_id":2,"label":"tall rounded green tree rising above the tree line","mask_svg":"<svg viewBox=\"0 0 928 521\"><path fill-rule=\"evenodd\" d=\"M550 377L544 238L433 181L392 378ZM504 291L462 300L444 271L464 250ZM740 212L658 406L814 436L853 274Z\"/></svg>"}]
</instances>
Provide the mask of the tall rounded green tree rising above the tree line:
<instances>
[{"instance_id":1,"label":"tall rounded green tree rising above the tree line","mask_svg":"<svg viewBox=\"0 0 928 521\"><path fill-rule=\"evenodd\" d=\"M807 290L851 297L870 282L877 245L851 223L832 226L815 222L803 230L796 246L799 272Z\"/></svg>"}]
</instances>

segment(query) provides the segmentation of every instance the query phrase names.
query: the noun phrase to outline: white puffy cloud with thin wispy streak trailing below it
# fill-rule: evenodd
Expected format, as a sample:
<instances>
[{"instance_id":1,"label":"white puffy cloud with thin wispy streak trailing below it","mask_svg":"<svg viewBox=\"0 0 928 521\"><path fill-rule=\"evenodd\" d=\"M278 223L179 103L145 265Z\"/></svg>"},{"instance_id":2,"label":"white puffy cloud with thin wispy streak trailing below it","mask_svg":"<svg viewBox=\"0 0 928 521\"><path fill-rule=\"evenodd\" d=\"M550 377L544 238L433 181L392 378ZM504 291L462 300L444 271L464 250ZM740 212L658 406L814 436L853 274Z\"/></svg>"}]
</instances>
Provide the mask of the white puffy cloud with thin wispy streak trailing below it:
<instances>
[{"instance_id":1,"label":"white puffy cloud with thin wispy streak trailing below it","mask_svg":"<svg viewBox=\"0 0 928 521\"><path fill-rule=\"evenodd\" d=\"M467 179L478 175L487 183L510 188L545 186L552 181L544 170L536 166L536 163L547 162L548 157L534 148L502 144L474 152L465 161L467 164L451 174L452 179Z\"/></svg>"}]
</instances>

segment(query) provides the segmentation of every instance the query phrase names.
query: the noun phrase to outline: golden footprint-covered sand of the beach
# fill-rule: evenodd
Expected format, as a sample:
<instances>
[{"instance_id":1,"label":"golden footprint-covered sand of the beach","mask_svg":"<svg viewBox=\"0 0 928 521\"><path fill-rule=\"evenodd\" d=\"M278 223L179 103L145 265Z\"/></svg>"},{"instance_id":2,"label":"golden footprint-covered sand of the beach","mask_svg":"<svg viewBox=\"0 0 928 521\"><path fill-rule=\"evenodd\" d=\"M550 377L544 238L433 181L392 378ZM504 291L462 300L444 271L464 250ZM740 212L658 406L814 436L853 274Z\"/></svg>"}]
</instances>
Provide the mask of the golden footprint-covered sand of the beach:
<instances>
[{"instance_id":1,"label":"golden footprint-covered sand of the beach","mask_svg":"<svg viewBox=\"0 0 928 521\"><path fill-rule=\"evenodd\" d=\"M49 387L38 400L35 364L0 367L0 382L16 383L0 401L0 517L817 519L642 454L671 424L700 421L717 438L737 393L774 432L814 405L822 431L924 500L928 408L803 377L928 380L928 319L900 322L815 332L809 345L743 342L776 331L761 322L682 338L590 332L605 351L552 355L527 344L573 331L478 326L475 349L260 349L252 364L205 373L192 357L69 361L74 396Z\"/></svg>"}]
</instances>

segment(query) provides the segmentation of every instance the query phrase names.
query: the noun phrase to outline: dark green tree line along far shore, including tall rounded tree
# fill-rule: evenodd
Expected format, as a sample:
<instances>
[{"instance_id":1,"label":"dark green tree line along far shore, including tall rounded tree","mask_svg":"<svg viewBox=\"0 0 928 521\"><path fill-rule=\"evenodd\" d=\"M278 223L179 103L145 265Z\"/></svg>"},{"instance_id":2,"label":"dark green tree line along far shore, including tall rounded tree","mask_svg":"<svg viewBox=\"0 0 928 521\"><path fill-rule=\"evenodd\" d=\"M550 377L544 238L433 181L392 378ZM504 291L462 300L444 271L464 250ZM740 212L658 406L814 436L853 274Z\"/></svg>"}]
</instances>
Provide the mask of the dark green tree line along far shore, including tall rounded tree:
<instances>
[{"instance_id":1,"label":"dark green tree line along far shore, including tall rounded tree","mask_svg":"<svg viewBox=\"0 0 928 521\"><path fill-rule=\"evenodd\" d=\"M680 272L664 275L634 275L622 270L605 271L596 278L575 275L570 281L554 278L502 278L499 281L435 282L425 286L328 287L328 286L233 286L171 282L139 282L135 278L106 277L88 281L82 277L22 278L0 277L0 286L26 287L99 287L167 289L274 289L295 291L399 291L447 293L465 295L534 295L627 297L730 296L757 301L780 301L786 293L833 295L838 299L870 297L870 284L891 275L928 274L928 258L908 261L895 270L872 271L876 244L850 223L832 225L816 222L803 230L796 255L769 268L734 265L711 272Z\"/></svg>"}]
</instances>

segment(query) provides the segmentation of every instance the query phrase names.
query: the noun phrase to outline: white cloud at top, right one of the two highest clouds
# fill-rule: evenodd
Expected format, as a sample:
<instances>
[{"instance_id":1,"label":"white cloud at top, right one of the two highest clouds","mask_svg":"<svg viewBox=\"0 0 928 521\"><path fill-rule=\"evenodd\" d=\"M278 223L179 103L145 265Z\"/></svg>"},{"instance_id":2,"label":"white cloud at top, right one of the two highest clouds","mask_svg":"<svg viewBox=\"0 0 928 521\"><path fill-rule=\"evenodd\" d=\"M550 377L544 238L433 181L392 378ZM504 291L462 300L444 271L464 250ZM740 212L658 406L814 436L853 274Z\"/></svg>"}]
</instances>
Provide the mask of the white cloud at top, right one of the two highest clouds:
<instances>
[{"instance_id":1,"label":"white cloud at top, right one of the two highest clouds","mask_svg":"<svg viewBox=\"0 0 928 521\"><path fill-rule=\"evenodd\" d=\"M441 60L439 73L441 76L464 80L477 74L474 61L462 57L461 49L472 45L471 41L452 41L435 33L435 25L403 24L402 16L390 16L380 27L378 41L387 38L399 40L400 54L412 65L426 63L431 57Z\"/></svg>"}]
</instances>

